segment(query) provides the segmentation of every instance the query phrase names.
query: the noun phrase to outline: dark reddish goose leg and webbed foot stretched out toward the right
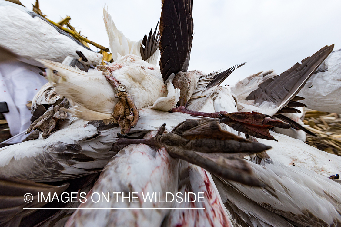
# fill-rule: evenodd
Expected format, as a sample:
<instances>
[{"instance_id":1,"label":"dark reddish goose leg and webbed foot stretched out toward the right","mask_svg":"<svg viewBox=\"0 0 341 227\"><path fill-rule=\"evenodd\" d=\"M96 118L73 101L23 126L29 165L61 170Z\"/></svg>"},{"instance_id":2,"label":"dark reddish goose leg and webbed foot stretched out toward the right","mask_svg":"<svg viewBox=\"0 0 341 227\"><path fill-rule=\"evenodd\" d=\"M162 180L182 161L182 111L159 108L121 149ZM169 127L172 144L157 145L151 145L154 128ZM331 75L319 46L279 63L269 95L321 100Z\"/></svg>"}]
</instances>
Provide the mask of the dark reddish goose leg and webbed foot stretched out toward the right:
<instances>
[{"instance_id":1,"label":"dark reddish goose leg and webbed foot stretched out toward the right","mask_svg":"<svg viewBox=\"0 0 341 227\"><path fill-rule=\"evenodd\" d=\"M267 117L264 114L257 112L237 112L237 113L227 113L225 111L215 112L215 113L204 113L198 111L191 111L182 106L173 108L172 112L187 113L194 116L212 117L219 118L222 123L230 126L234 130L239 132L244 132L248 135L267 139L275 140L272 135L270 135L269 129L272 127L278 128L290 128L291 125L285 123L281 120L274 120Z\"/></svg>"}]
</instances>

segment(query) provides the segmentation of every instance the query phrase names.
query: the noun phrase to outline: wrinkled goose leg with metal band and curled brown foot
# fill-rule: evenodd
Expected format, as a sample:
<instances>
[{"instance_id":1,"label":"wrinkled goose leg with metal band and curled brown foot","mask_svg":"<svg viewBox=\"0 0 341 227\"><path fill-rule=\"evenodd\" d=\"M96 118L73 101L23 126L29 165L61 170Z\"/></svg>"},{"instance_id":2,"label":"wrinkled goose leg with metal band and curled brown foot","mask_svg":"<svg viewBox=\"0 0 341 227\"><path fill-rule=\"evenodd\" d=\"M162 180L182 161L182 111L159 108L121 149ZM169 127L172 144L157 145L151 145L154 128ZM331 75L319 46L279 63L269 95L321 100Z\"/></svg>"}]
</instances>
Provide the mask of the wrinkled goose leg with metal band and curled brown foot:
<instances>
[{"instance_id":1,"label":"wrinkled goose leg with metal band and curled brown foot","mask_svg":"<svg viewBox=\"0 0 341 227\"><path fill-rule=\"evenodd\" d=\"M97 66L97 70L102 71L103 76L114 86L116 95L119 101L116 103L112 116L118 120L121 127L121 134L127 135L131 128L134 128L139 119L138 110L133 102L133 98L125 89L123 84L120 84L112 74L111 70L105 66Z\"/></svg>"}]
</instances>

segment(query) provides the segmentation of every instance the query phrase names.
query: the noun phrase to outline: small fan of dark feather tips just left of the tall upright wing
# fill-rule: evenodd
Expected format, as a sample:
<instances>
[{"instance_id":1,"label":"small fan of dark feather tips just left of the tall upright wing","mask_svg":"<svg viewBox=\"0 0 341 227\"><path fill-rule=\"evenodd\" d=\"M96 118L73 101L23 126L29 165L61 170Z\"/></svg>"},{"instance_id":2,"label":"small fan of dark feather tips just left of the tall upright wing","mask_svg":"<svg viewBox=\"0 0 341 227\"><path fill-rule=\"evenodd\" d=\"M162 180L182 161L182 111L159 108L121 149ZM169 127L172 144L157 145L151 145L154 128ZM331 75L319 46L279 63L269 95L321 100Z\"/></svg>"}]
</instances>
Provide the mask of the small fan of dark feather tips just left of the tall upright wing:
<instances>
[{"instance_id":1,"label":"small fan of dark feather tips just left of the tall upright wing","mask_svg":"<svg viewBox=\"0 0 341 227\"><path fill-rule=\"evenodd\" d=\"M147 38L147 35L145 35L142 39L143 46L140 47L140 53L141 53L142 59L145 61L148 58L150 58L150 56L153 55L159 47L159 42L160 42L159 31L158 31L158 34L156 33L158 25L159 25L159 21L156 25L153 35L152 35L153 29L150 29L148 38Z\"/></svg>"}]
</instances>

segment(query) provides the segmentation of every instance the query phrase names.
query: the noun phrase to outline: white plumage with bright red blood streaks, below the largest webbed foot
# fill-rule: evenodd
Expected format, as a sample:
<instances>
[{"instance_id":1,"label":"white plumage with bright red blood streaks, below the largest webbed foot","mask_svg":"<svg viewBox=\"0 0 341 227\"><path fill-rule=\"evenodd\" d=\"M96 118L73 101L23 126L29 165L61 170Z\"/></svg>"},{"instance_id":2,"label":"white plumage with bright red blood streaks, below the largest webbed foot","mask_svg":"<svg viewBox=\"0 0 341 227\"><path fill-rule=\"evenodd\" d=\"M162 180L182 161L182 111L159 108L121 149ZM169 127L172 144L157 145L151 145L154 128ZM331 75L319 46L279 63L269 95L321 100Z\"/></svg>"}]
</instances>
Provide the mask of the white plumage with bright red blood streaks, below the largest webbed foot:
<instances>
[{"instance_id":1,"label":"white plumage with bright red blood streaks, below the largest webbed foot","mask_svg":"<svg viewBox=\"0 0 341 227\"><path fill-rule=\"evenodd\" d=\"M180 161L180 165L179 193L181 194L178 195L184 197L185 193L191 194L189 198L187 197L187 202L174 196L174 208L183 209L170 211L164 220L163 226L233 226L232 216L225 209L211 174L205 171L205 169L185 161ZM204 209L190 210L186 208Z\"/></svg>"}]
</instances>

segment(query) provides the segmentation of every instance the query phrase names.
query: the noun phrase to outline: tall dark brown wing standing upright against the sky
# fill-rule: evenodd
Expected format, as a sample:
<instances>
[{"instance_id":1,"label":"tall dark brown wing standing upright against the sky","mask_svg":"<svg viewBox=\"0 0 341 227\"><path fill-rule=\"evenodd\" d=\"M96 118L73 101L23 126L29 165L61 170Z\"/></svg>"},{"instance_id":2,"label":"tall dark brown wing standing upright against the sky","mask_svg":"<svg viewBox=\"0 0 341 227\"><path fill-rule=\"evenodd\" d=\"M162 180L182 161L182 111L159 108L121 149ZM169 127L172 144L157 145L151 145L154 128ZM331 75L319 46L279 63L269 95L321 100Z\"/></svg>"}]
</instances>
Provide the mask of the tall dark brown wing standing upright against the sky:
<instances>
[{"instance_id":1,"label":"tall dark brown wing standing upright against the sky","mask_svg":"<svg viewBox=\"0 0 341 227\"><path fill-rule=\"evenodd\" d=\"M164 0L160 18L160 70L164 81L187 71L193 40L193 0Z\"/></svg>"}]
</instances>

